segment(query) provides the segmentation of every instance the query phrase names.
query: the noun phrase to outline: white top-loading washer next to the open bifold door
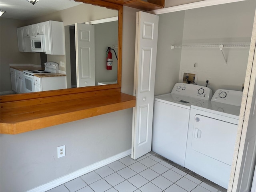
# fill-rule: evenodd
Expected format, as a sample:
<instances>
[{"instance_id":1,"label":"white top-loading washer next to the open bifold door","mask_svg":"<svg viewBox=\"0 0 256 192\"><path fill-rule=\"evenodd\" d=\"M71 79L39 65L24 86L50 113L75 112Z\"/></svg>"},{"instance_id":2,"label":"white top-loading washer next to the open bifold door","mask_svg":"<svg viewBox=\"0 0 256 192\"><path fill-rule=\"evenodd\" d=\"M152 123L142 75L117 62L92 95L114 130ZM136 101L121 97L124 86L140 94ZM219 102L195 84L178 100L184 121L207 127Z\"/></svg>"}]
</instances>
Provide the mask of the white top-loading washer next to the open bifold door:
<instances>
[{"instance_id":1,"label":"white top-loading washer next to the open bifold door","mask_svg":"<svg viewBox=\"0 0 256 192\"><path fill-rule=\"evenodd\" d=\"M177 83L171 93L155 96L152 151L184 166L191 104L212 98L208 87Z\"/></svg>"}]
</instances>

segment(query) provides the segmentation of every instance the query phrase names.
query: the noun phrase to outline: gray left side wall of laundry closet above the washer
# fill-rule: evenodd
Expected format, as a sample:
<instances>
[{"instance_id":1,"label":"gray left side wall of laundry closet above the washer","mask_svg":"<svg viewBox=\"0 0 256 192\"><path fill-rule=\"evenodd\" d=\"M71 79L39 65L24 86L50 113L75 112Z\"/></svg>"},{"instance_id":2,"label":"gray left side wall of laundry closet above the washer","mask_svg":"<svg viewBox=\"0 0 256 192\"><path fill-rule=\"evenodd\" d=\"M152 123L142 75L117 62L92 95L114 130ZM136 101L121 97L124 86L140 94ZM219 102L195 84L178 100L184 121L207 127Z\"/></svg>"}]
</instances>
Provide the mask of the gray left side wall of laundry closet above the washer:
<instances>
[{"instance_id":1,"label":"gray left side wall of laundry closet above the washer","mask_svg":"<svg viewBox=\"0 0 256 192\"><path fill-rule=\"evenodd\" d=\"M182 44L184 16L185 11L159 15L155 95L171 92L178 81L181 49L170 47Z\"/></svg>"}]
</instances>

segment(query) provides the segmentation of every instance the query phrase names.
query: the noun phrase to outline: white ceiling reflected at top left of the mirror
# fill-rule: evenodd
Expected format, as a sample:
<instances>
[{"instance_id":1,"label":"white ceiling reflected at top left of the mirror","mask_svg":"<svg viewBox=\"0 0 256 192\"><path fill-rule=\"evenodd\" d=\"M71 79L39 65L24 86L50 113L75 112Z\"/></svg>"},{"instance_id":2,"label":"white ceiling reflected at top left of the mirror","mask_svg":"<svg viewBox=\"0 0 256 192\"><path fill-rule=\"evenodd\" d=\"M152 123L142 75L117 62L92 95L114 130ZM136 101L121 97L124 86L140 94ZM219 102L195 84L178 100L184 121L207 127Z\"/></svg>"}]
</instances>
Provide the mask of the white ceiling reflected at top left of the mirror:
<instances>
[{"instance_id":1,"label":"white ceiling reflected at top left of the mirror","mask_svg":"<svg viewBox=\"0 0 256 192\"><path fill-rule=\"evenodd\" d=\"M3 18L30 20L79 4L74 0L40 0L34 5L27 0L0 0L0 9L6 11Z\"/></svg>"}]
</instances>

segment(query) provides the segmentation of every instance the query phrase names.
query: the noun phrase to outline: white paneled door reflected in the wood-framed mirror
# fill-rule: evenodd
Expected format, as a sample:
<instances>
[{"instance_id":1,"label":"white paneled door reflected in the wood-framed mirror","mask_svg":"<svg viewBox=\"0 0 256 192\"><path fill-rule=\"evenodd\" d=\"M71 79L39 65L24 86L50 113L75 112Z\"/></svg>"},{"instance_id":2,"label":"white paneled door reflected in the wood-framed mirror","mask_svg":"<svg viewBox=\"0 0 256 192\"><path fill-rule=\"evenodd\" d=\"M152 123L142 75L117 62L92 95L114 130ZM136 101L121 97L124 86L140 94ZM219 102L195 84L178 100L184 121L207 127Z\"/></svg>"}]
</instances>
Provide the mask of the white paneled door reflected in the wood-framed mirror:
<instances>
[{"instance_id":1,"label":"white paneled door reflected in the wood-framed mirror","mask_svg":"<svg viewBox=\"0 0 256 192\"><path fill-rule=\"evenodd\" d=\"M77 87L95 86L94 25L75 23Z\"/></svg>"}]
</instances>

